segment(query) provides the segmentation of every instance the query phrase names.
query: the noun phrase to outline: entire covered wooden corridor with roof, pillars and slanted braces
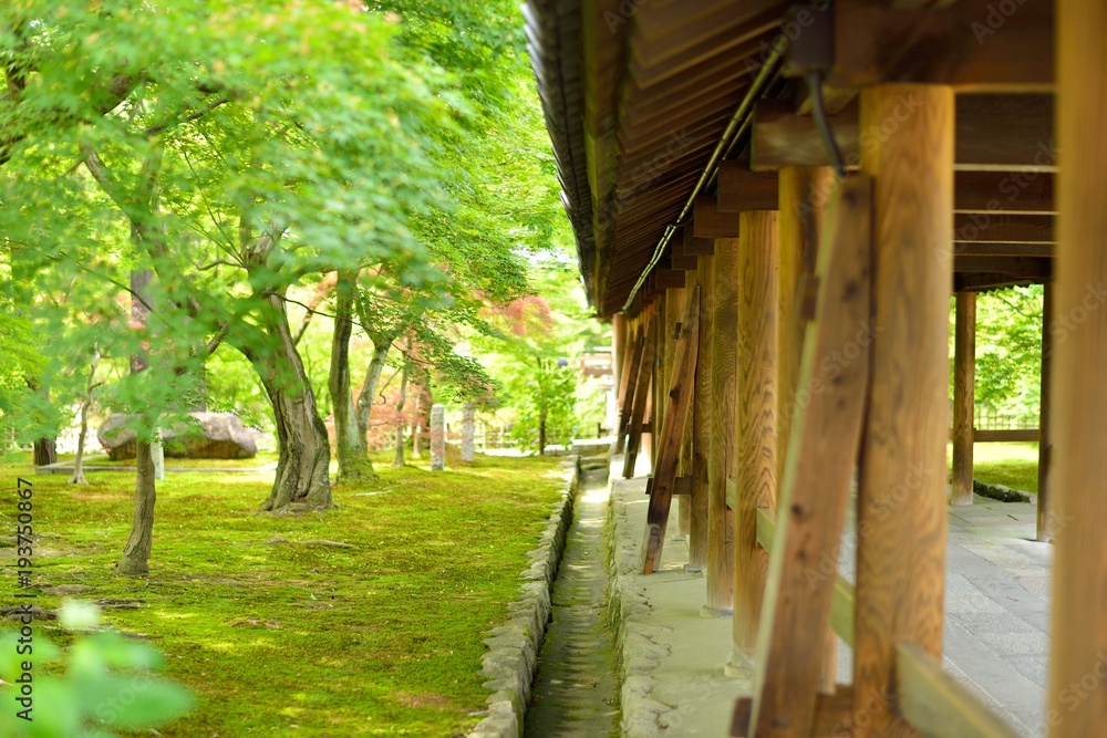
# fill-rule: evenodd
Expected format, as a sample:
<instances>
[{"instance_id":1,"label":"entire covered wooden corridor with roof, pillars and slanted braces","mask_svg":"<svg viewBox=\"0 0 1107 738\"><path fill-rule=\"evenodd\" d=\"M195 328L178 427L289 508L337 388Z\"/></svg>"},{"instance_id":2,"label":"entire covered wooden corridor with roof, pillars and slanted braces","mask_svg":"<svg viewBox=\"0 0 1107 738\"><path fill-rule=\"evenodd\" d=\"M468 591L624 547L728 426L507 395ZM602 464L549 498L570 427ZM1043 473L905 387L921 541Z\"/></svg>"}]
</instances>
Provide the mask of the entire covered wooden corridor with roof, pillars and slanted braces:
<instances>
[{"instance_id":1,"label":"entire covered wooden corridor with roof, pillars and slanted braces","mask_svg":"<svg viewBox=\"0 0 1107 738\"><path fill-rule=\"evenodd\" d=\"M1010 735L942 671L946 511L972 500L974 295L1042 283L1049 735L1107 735L1104 680L1065 698L1107 652L1107 4L526 13L581 273L613 322L619 450L628 475L652 462L641 568L679 524L702 604L733 612L755 680L732 734L865 710L851 735ZM856 583L810 576L847 517Z\"/></svg>"}]
</instances>

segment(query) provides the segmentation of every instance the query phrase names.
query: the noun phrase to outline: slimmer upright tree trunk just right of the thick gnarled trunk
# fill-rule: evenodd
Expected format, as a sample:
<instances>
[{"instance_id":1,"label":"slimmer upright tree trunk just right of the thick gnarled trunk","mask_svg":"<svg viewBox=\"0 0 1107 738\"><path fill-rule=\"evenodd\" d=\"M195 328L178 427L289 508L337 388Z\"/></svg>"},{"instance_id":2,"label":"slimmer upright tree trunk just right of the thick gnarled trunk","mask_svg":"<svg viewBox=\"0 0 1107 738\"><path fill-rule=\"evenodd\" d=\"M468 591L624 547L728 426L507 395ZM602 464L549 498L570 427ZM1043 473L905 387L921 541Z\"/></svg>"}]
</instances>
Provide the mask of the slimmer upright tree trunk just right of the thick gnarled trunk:
<instances>
[{"instance_id":1,"label":"slimmer upright tree trunk just right of the thick gnarled trunk","mask_svg":"<svg viewBox=\"0 0 1107 738\"><path fill-rule=\"evenodd\" d=\"M375 481L380 475L369 458L365 433L359 428L350 386L350 335L353 333L353 291L358 272L340 271L331 341L328 388L334 408L334 446L339 457L339 482ZM368 428L366 428L368 429Z\"/></svg>"}]
</instances>

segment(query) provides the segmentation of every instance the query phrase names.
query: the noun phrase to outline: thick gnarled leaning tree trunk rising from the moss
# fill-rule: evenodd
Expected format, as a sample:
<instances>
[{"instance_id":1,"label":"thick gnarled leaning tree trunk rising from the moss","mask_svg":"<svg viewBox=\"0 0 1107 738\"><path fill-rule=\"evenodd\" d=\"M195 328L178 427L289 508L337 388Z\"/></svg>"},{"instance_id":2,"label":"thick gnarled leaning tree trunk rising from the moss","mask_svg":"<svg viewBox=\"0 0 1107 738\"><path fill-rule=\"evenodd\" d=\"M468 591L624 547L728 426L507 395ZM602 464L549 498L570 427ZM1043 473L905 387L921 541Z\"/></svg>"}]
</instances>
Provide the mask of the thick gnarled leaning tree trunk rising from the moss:
<instances>
[{"instance_id":1,"label":"thick gnarled leaning tree trunk rising from the moss","mask_svg":"<svg viewBox=\"0 0 1107 738\"><path fill-rule=\"evenodd\" d=\"M277 478L262 509L325 510L331 507L327 426L292 341L283 301L271 295L267 308L263 320L270 346L265 354L252 349L248 353L272 403L280 449Z\"/></svg>"}]
</instances>

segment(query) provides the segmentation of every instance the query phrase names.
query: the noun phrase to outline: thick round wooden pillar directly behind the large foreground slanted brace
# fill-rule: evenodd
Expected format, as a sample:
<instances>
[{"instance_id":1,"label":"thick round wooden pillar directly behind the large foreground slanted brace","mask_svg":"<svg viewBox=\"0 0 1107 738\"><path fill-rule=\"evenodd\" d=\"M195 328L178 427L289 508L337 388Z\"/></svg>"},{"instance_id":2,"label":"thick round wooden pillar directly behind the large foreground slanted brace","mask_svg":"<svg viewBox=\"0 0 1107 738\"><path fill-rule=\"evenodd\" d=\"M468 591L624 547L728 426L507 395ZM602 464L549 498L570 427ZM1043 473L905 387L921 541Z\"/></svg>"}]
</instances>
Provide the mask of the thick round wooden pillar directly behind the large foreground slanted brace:
<instances>
[{"instance_id":1,"label":"thick round wooden pillar directly behind the large foreground slanted brace","mask_svg":"<svg viewBox=\"0 0 1107 738\"><path fill-rule=\"evenodd\" d=\"M896 715L894 646L942 651L953 218L953 90L861 92L873 178L872 372L857 511L857 736L909 730Z\"/></svg>"}]
</instances>

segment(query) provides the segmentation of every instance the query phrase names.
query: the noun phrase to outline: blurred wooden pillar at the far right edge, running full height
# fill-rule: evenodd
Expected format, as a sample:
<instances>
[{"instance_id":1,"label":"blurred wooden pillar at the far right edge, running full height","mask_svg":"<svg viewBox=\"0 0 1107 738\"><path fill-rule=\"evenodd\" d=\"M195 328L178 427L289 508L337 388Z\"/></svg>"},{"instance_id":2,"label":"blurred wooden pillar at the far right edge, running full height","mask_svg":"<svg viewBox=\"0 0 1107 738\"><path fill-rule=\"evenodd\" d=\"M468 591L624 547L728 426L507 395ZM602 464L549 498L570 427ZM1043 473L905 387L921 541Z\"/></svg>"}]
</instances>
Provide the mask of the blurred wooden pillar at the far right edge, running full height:
<instances>
[{"instance_id":1,"label":"blurred wooden pillar at the far right edge, running full height","mask_svg":"<svg viewBox=\"0 0 1107 738\"><path fill-rule=\"evenodd\" d=\"M1057 2L1049 735L1107 725L1107 3ZM1085 686L1090 685L1090 687Z\"/></svg>"}]
</instances>

